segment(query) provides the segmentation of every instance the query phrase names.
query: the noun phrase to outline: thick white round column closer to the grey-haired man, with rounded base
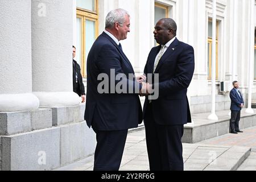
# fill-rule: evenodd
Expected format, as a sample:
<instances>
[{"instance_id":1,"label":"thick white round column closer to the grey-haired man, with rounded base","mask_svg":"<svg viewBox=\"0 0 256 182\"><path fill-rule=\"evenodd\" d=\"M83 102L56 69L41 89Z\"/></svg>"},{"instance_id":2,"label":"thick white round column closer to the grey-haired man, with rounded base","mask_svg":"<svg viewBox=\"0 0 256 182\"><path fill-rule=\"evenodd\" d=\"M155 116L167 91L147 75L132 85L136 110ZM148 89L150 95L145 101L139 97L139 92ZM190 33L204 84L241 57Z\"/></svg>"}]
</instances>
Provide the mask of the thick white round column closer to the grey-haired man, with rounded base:
<instances>
[{"instance_id":1,"label":"thick white round column closer to the grey-haired man, with rounded base","mask_svg":"<svg viewBox=\"0 0 256 182\"><path fill-rule=\"evenodd\" d=\"M32 84L40 107L79 105L72 44L73 1L32 0Z\"/></svg>"}]
</instances>

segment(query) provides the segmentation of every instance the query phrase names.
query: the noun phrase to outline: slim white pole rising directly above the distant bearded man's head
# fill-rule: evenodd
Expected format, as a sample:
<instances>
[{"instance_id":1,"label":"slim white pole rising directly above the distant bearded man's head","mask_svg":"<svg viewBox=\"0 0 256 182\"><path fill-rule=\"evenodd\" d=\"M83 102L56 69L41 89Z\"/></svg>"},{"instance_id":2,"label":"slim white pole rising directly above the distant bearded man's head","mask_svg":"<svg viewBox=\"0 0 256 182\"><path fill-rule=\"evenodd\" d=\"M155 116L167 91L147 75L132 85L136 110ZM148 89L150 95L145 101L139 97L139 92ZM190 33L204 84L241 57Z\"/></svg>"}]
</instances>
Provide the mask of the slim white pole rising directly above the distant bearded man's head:
<instances>
[{"instance_id":1,"label":"slim white pole rising directly above the distant bearded man's head","mask_svg":"<svg viewBox=\"0 0 256 182\"><path fill-rule=\"evenodd\" d=\"M232 63L232 82L236 80L237 75L237 22L238 22L238 2L237 0L233 1L233 63Z\"/></svg>"}]
</instances>

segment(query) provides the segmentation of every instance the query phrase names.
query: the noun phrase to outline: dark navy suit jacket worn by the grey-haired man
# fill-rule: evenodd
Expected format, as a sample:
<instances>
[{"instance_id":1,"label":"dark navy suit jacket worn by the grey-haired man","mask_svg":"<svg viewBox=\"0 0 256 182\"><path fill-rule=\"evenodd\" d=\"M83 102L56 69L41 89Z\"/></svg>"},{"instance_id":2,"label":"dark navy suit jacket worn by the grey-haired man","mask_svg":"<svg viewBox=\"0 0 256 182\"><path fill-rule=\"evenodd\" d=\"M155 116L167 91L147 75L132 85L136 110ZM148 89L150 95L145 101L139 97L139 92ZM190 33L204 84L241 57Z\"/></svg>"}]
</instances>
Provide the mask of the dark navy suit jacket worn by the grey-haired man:
<instances>
[{"instance_id":1,"label":"dark navy suit jacket worn by the grey-haired man","mask_svg":"<svg viewBox=\"0 0 256 182\"><path fill-rule=\"evenodd\" d=\"M114 76L123 73L129 78L134 74L133 67L121 48L109 35L103 32L90 49L87 60L87 92L85 120L87 125L96 130L115 131L138 127L142 122L142 107L138 93L98 93L97 87L101 80L97 77L105 73L110 78L110 69L114 69ZM141 84L137 81L122 78L122 81L135 91ZM110 80L109 80L110 83ZM114 82L114 86L120 83ZM105 87L104 87L105 88ZM109 86L113 89L113 86ZM128 91L128 90L127 90Z\"/></svg>"}]
</instances>

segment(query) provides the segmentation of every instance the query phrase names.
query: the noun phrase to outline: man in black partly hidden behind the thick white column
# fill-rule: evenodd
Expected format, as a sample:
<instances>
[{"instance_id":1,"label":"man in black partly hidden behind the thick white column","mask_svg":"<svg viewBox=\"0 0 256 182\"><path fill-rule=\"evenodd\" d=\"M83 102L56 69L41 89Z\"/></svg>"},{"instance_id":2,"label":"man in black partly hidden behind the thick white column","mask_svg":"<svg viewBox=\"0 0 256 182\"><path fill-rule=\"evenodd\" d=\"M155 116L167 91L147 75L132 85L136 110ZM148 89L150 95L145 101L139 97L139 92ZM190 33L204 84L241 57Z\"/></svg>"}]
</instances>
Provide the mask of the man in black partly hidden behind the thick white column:
<instances>
[{"instance_id":1,"label":"man in black partly hidden behind the thick white column","mask_svg":"<svg viewBox=\"0 0 256 182\"><path fill-rule=\"evenodd\" d=\"M76 57L76 47L73 46L73 92L76 92L79 97L82 97L82 103L85 102L85 90L82 83L81 68L74 60Z\"/></svg>"}]
</instances>

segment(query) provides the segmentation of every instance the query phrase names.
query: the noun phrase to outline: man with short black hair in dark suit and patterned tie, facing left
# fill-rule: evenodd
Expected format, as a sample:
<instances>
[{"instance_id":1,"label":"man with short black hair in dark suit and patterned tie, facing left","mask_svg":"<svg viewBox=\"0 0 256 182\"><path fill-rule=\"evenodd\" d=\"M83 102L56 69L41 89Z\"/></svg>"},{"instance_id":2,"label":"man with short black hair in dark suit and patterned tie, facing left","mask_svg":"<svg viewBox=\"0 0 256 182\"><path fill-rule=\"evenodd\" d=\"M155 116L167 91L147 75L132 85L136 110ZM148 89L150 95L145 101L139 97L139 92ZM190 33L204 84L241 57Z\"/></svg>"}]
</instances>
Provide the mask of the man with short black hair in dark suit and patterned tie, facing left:
<instances>
[{"instance_id":1,"label":"man with short black hair in dark suit and patterned tie, facing left","mask_svg":"<svg viewBox=\"0 0 256 182\"><path fill-rule=\"evenodd\" d=\"M191 122L187 88L195 69L191 46L176 38L173 19L160 19L155 26L159 46L151 49L144 74L158 74L159 82L147 85L148 93L158 87L159 97L148 100L143 107L150 169L153 171L183 171L184 124ZM154 76L155 77L155 76ZM150 82L149 80L147 80Z\"/></svg>"}]
</instances>

